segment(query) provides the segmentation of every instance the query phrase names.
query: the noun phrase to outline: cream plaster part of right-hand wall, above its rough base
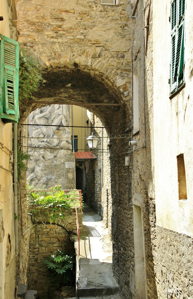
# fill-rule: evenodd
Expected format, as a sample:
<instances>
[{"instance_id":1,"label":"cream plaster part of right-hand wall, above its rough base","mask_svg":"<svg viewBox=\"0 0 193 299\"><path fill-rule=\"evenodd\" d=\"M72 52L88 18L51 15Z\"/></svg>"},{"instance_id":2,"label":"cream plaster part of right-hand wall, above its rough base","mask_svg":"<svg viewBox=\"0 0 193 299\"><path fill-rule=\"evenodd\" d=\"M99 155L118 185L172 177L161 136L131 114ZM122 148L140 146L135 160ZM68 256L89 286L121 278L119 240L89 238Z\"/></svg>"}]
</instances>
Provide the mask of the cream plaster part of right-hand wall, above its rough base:
<instances>
[{"instance_id":1,"label":"cream plaster part of right-hand wall, above its rough base","mask_svg":"<svg viewBox=\"0 0 193 299\"><path fill-rule=\"evenodd\" d=\"M186 86L179 94L169 99L170 1L153 1L153 22L155 24L153 26L153 105L157 225L190 236L193 236L192 14L192 1L187 0L184 71ZM179 200L178 196L177 155L179 154L184 154L187 200Z\"/></svg>"}]
</instances>

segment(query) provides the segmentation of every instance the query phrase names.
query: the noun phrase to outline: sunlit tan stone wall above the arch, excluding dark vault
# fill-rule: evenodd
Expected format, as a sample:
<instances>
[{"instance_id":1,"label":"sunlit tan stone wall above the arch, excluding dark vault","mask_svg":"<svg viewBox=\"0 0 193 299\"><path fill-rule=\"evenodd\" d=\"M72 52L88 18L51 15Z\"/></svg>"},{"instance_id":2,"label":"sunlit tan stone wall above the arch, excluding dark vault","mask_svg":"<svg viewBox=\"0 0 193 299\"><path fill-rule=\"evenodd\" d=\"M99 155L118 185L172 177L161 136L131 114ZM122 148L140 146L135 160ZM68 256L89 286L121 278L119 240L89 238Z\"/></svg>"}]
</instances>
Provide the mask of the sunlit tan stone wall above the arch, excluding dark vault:
<instances>
[{"instance_id":1,"label":"sunlit tan stone wall above the arch, excluding dark vault","mask_svg":"<svg viewBox=\"0 0 193 299\"><path fill-rule=\"evenodd\" d=\"M108 68L113 78L117 65L126 84L129 78L125 71L131 70L127 6L126 0L118 5L88 0L49 1L49 5L39 0L17 0L19 41L35 52L43 67L74 62L92 67L95 62L94 67L100 65L103 74Z\"/></svg>"}]
</instances>

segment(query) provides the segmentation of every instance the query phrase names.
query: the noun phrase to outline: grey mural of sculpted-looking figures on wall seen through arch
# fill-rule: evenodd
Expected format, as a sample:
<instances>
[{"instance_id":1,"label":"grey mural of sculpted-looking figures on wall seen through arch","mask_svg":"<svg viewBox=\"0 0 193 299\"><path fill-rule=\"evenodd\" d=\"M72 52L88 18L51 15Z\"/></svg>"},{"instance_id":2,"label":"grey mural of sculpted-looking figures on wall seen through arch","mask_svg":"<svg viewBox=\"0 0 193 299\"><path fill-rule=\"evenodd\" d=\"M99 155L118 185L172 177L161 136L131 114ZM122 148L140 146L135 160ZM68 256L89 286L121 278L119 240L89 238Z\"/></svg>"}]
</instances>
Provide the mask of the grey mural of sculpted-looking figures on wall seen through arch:
<instances>
[{"instance_id":1,"label":"grey mural of sculpted-looking figures on wall seen through arch","mask_svg":"<svg viewBox=\"0 0 193 299\"><path fill-rule=\"evenodd\" d=\"M72 153L70 106L53 104L31 112L28 122L27 181L35 189L61 184L75 188L75 158ZM66 168L66 162L71 167ZM74 165L74 166L73 166Z\"/></svg>"}]
</instances>

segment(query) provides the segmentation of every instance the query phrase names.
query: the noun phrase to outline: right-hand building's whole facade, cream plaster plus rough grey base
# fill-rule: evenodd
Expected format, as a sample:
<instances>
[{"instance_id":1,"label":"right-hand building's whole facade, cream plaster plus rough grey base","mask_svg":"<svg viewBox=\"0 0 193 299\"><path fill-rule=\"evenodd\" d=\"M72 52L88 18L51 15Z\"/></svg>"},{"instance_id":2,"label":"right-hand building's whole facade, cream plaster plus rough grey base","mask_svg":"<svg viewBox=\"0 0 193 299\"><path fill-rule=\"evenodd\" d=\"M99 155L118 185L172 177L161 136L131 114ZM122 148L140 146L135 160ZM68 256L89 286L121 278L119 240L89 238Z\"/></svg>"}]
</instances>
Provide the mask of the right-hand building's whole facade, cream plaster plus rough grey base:
<instances>
[{"instance_id":1,"label":"right-hand building's whole facade, cream plaster plus rough grey base","mask_svg":"<svg viewBox=\"0 0 193 299\"><path fill-rule=\"evenodd\" d=\"M170 2L153 1L154 166L159 298L191 298L192 284L192 2L184 2L185 87L170 97ZM156 10L164 18L158 20ZM158 43L158 40L162 43ZM150 51L150 49L149 49ZM160 67L160 61L162 67ZM186 188L183 187L183 182ZM186 194L182 195L183 189ZM167 254L165 254L167 252Z\"/></svg>"}]
</instances>

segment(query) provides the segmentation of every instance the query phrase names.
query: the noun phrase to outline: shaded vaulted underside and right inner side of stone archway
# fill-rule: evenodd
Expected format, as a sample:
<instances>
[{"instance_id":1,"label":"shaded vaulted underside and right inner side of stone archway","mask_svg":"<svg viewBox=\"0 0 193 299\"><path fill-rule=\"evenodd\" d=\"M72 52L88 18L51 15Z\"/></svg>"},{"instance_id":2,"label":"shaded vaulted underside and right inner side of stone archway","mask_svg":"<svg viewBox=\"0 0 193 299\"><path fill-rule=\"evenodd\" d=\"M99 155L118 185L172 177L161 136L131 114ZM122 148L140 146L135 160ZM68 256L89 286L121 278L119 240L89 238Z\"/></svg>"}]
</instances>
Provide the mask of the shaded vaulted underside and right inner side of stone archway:
<instances>
[{"instance_id":1,"label":"shaded vaulted underside and right inner side of stone archway","mask_svg":"<svg viewBox=\"0 0 193 299\"><path fill-rule=\"evenodd\" d=\"M118 214L120 209L127 213L129 169L125 167L125 156L129 151L130 137L130 103L123 102L117 89L100 76L93 77L89 72L73 67L55 68L45 71L44 84L34 94L33 101L21 107L19 132L24 119L30 112L50 104L78 104L89 109L103 123L110 139L109 160L105 161L104 187L102 197L106 204L103 206L103 217L109 232L112 231L114 252L120 244L120 229ZM25 192L23 182L23 192ZM21 190L22 192L22 190ZM25 199L25 196L22 196ZM123 205L123 206L122 206ZM132 215L130 215L132 218ZM122 240L121 240L122 242ZM114 255L115 262L118 256ZM129 270L128 270L129 271Z\"/></svg>"}]
</instances>

